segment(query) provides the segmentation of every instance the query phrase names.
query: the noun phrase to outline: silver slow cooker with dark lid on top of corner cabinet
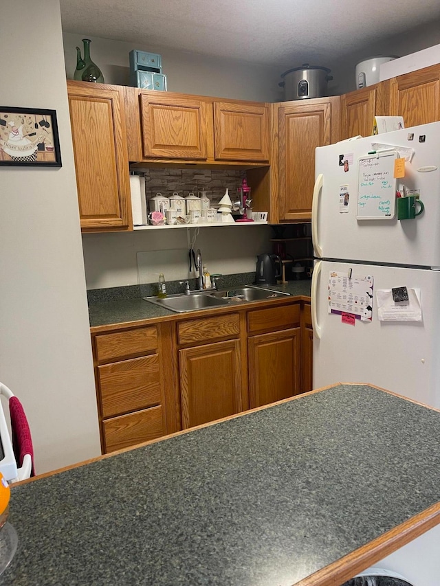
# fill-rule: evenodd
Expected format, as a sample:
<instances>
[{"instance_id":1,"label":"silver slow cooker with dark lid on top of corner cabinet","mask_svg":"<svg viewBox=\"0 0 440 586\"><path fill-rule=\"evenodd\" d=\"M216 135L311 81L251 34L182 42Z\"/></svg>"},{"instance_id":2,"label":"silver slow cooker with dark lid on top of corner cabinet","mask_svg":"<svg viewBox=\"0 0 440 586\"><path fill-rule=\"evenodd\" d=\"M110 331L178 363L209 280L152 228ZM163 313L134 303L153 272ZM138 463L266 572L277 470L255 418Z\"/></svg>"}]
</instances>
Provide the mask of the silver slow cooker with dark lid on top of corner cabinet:
<instances>
[{"instance_id":1,"label":"silver slow cooker with dark lid on top of corner cabinet","mask_svg":"<svg viewBox=\"0 0 440 586\"><path fill-rule=\"evenodd\" d=\"M284 100L305 100L306 98L322 98L327 95L327 82L333 79L329 76L330 69L304 63L301 67L294 67L285 71L279 82L284 87Z\"/></svg>"}]
</instances>

